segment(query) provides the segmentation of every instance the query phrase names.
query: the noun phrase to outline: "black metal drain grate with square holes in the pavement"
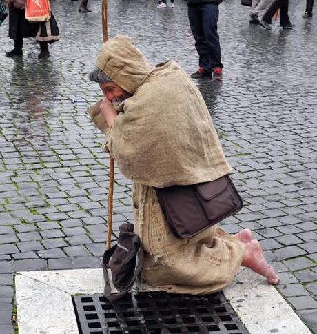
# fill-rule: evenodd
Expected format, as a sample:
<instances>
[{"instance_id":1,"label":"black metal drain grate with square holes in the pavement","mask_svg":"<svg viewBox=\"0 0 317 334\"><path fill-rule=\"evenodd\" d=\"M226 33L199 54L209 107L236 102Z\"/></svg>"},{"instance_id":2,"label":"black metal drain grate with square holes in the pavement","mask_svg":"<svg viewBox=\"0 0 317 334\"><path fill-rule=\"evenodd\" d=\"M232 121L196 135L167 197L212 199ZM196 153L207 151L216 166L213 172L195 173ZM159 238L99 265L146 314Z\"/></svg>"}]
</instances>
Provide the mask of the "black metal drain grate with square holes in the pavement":
<instances>
[{"instance_id":1,"label":"black metal drain grate with square holes in the pavement","mask_svg":"<svg viewBox=\"0 0 317 334\"><path fill-rule=\"evenodd\" d=\"M73 301L81 334L248 333L222 293L134 293L114 303L79 295Z\"/></svg>"}]
</instances>

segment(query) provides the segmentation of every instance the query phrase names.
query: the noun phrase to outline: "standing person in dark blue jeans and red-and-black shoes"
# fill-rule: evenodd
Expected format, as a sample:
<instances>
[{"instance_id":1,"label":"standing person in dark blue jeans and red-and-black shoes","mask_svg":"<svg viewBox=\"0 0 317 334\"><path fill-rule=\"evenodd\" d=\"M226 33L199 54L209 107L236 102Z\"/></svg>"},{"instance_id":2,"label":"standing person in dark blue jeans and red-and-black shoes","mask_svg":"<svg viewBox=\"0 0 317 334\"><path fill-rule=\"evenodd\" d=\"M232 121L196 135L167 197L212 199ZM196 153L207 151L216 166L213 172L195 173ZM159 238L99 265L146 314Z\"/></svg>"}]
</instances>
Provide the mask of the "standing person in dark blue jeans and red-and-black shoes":
<instances>
[{"instance_id":1,"label":"standing person in dark blue jeans and red-and-black shoes","mask_svg":"<svg viewBox=\"0 0 317 334\"><path fill-rule=\"evenodd\" d=\"M192 78L223 78L221 47L217 32L218 5L222 0L185 0L188 5L190 28L199 55L199 68Z\"/></svg>"}]
</instances>

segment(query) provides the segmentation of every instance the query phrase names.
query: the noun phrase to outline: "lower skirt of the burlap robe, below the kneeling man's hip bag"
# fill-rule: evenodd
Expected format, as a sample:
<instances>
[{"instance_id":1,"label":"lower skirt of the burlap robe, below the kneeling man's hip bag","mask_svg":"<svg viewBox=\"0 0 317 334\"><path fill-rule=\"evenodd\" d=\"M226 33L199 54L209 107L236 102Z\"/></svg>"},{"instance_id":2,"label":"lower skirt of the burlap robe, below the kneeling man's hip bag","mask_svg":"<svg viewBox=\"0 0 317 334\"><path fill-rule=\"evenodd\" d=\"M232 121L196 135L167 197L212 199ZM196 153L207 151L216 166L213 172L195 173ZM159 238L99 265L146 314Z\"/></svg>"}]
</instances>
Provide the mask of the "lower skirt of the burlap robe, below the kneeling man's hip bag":
<instances>
[{"instance_id":1,"label":"lower skirt of the burlap robe, below the kneeling man's hip bag","mask_svg":"<svg viewBox=\"0 0 317 334\"><path fill-rule=\"evenodd\" d=\"M147 284L170 293L196 295L219 291L232 282L241 266L245 244L218 226L190 239L176 238L165 222L153 188L135 182L133 210L135 230L145 249L142 276Z\"/></svg>"}]
</instances>

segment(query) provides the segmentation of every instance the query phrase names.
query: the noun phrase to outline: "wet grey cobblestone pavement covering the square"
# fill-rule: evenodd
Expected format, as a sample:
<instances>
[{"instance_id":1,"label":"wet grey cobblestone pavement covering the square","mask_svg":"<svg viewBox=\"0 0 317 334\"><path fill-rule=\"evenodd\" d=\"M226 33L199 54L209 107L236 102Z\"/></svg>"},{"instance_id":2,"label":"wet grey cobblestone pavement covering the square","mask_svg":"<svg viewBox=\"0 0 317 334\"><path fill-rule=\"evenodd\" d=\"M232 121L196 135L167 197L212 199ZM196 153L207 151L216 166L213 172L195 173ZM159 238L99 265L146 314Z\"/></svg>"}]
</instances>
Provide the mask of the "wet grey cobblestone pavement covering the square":
<instances>
[{"instance_id":1,"label":"wet grey cobblestone pavement covering the square","mask_svg":"<svg viewBox=\"0 0 317 334\"><path fill-rule=\"evenodd\" d=\"M8 21L0 28L0 333L11 325L16 271L101 266L106 230L108 156L87 107L100 97L87 79L101 45L100 1L79 14L78 1L52 10L61 41L37 59L25 41L8 59ZM110 36L130 34L150 63L174 58L197 68L186 6L109 0ZM245 207L223 227L251 228L279 272L278 291L317 333L316 35L291 1L294 30L249 26L238 0L221 5L222 83L196 81L203 92ZM131 182L116 170L114 232L132 219ZM115 238L115 236L114 236Z\"/></svg>"}]
</instances>

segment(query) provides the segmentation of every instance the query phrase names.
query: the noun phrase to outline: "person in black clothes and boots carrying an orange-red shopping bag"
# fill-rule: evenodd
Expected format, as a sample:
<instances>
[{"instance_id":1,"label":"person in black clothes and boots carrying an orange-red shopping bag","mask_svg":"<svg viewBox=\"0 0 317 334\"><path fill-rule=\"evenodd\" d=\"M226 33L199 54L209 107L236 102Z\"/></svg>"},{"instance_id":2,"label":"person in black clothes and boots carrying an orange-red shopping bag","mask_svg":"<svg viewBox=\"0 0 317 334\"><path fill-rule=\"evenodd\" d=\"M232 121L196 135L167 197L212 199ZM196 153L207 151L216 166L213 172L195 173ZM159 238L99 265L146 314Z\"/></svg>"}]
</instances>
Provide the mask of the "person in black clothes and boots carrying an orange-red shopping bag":
<instances>
[{"instance_id":1,"label":"person in black clothes and boots carrying an orange-red shopping bag","mask_svg":"<svg viewBox=\"0 0 317 334\"><path fill-rule=\"evenodd\" d=\"M41 52L37 57L48 58L48 43L59 40L59 28L51 12L50 20L41 23L30 23L25 19L24 0L6 0L9 9L9 37L14 41L14 48L6 52L7 57L23 55L23 38L35 37Z\"/></svg>"}]
</instances>

